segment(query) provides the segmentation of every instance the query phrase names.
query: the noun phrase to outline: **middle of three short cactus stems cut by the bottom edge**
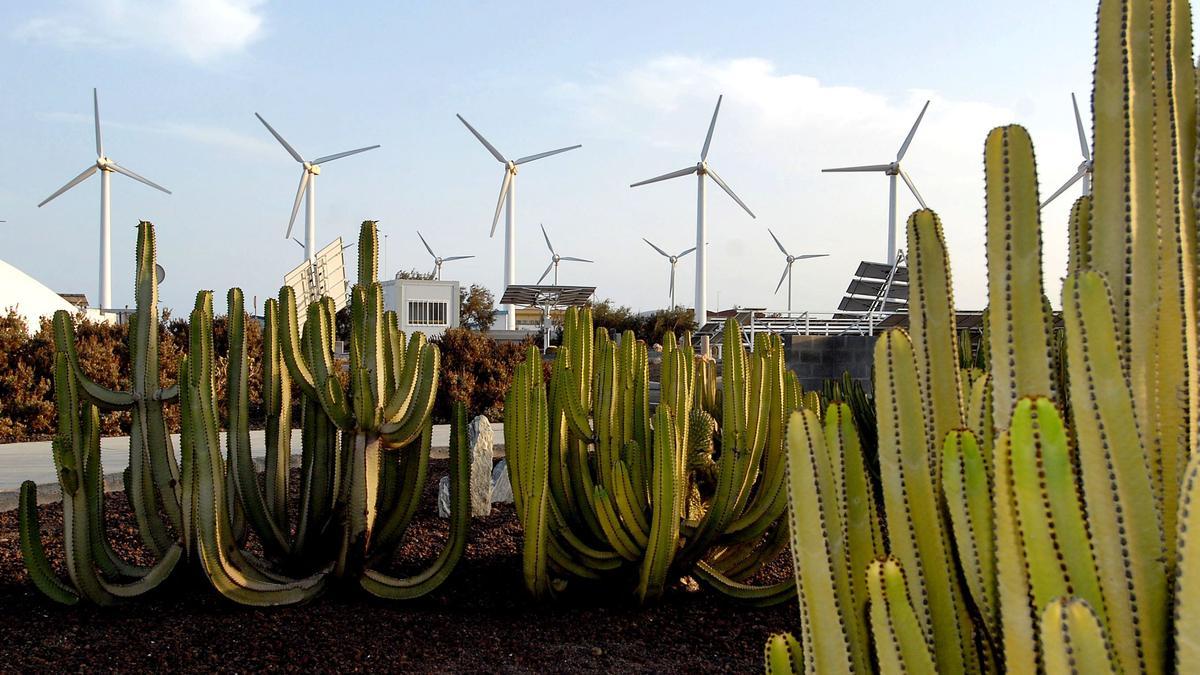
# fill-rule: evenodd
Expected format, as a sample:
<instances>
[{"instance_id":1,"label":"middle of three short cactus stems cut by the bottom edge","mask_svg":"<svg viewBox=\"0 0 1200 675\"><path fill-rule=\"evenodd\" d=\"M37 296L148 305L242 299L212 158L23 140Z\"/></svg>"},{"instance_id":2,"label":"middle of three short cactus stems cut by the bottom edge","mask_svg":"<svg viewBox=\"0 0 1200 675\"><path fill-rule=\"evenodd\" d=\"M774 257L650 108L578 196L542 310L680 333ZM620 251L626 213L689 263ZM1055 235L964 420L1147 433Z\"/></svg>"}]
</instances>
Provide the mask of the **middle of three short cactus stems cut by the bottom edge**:
<instances>
[{"instance_id":1,"label":"middle of three short cactus stems cut by the bottom edge","mask_svg":"<svg viewBox=\"0 0 1200 675\"><path fill-rule=\"evenodd\" d=\"M900 562L893 557L872 562L866 586L880 673L936 673L929 637L920 628Z\"/></svg>"}]
</instances>

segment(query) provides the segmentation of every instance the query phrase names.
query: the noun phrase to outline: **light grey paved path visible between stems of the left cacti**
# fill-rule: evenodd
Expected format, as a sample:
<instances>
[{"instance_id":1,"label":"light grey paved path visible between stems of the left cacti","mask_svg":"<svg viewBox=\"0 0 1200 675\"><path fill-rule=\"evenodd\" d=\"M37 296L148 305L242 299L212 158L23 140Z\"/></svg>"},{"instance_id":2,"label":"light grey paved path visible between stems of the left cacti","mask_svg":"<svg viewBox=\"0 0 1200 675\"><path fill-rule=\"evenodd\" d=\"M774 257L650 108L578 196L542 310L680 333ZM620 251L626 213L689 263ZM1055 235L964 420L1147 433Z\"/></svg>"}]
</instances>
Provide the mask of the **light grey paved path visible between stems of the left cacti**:
<instances>
[{"instance_id":1,"label":"light grey paved path visible between stems of the left cacti","mask_svg":"<svg viewBox=\"0 0 1200 675\"><path fill-rule=\"evenodd\" d=\"M492 424L497 450L504 446L504 425ZM264 431L250 432L250 454L256 458L266 455ZM172 435L172 442L179 448L179 434ZM446 456L450 446L450 425L433 426L433 458ZM224 434L221 434L221 447L224 447ZM300 430L292 430L292 452L300 452ZM497 453L500 454L500 453ZM120 473L130 465L130 437L110 436L100 440L100 458L104 473ZM16 490L23 480L32 480L38 485L55 483L54 460L50 458L50 442L0 443L0 491Z\"/></svg>"}]
</instances>

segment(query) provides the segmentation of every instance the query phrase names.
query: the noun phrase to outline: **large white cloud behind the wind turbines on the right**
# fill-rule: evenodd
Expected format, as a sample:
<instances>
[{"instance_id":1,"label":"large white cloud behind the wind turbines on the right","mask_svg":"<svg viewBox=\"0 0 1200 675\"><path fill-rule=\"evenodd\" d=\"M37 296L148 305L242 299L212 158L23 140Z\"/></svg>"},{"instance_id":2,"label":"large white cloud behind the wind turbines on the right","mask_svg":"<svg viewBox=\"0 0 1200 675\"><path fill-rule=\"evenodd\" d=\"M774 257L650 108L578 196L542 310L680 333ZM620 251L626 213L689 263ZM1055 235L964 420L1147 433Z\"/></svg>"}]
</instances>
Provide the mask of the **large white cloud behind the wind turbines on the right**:
<instances>
[{"instance_id":1,"label":"large white cloud behind the wind turbines on the right","mask_svg":"<svg viewBox=\"0 0 1200 675\"><path fill-rule=\"evenodd\" d=\"M625 156L611 161L623 165L619 171L629 181L695 161L718 94L725 100L709 161L758 219L750 220L719 190L709 189L710 305L720 291L725 306L780 306L786 291L770 294L782 269L781 256L766 232L770 227L790 249L797 249L793 253L833 255L799 263L794 274L797 306L834 309L854 264L884 256L887 180L880 174L822 174L821 169L892 161L926 100L931 104L905 157L905 171L942 216L960 306L983 305L983 144L994 126L1019 121L1014 103L955 100L916 89L889 96L780 72L766 59L679 55L590 82L565 83L553 91L583 120L588 132L605 143L624 145ZM1064 125L1062 131L1070 130ZM1043 166L1057 167L1061 156L1066 157L1062 163L1073 163L1069 137L1036 141ZM1046 157L1052 161L1046 162ZM636 163L630 166L630 161ZM1046 183L1058 180L1054 173L1045 177ZM623 198L634 209L632 220L676 222L661 237L671 245L686 241L695 198L686 198L683 187L637 190L644 192L636 199ZM899 191L898 245L904 247L904 221L918 204L904 183ZM1051 215L1057 217L1057 213ZM622 234L636 240L646 227L630 226ZM1056 269L1056 246L1052 241L1054 250L1048 251L1048 270ZM690 276L691 270L682 274ZM1048 285L1054 286L1057 276L1049 274ZM644 280L610 287L619 288L613 288L616 294L636 297L638 281ZM684 287L690 288L690 283ZM1057 294L1056 288L1048 289L1051 297ZM690 304L691 293L685 294L684 301Z\"/></svg>"}]
</instances>

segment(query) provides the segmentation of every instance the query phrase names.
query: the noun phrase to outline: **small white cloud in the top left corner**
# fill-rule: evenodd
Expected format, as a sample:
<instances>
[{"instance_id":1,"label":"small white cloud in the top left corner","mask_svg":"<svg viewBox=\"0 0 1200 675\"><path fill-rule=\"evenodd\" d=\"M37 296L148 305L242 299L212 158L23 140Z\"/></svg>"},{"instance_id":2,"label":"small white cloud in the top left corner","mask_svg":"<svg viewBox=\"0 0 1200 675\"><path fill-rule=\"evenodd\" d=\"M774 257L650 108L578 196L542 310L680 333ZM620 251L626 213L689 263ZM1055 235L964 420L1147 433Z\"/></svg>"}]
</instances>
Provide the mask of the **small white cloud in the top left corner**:
<instances>
[{"instance_id":1,"label":"small white cloud in the top left corner","mask_svg":"<svg viewBox=\"0 0 1200 675\"><path fill-rule=\"evenodd\" d=\"M13 37L68 48L142 48L208 62L263 34L265 0L71 0L28 19Z\"/></svg>"}]
</instances>

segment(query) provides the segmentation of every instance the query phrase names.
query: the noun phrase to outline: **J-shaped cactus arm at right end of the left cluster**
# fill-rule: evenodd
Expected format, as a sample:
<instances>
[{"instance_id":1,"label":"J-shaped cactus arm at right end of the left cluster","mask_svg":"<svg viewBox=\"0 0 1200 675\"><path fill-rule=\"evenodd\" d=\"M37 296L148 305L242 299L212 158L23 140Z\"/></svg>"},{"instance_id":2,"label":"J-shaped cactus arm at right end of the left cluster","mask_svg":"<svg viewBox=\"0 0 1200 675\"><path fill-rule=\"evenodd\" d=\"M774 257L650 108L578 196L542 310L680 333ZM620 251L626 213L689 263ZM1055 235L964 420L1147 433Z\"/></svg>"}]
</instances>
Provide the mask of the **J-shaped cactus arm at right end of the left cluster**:
<instances>
[{"instance_id":1,"label":"J-shaped cactus arm at right end of the left cluster","mask_svg":"<svg viewBox=\"0 0 1200 675\"><path fill-rule=\"evenodd\" d=\"M470 447L467 444L467 406L454 405L450 429L450 538L433 563L420 574L396 579L366 569L361 585L368 593L382 598L410 599L425 596L440 586L454 571L467 549L470 527Z\"/></svg>"}]
</instances>

